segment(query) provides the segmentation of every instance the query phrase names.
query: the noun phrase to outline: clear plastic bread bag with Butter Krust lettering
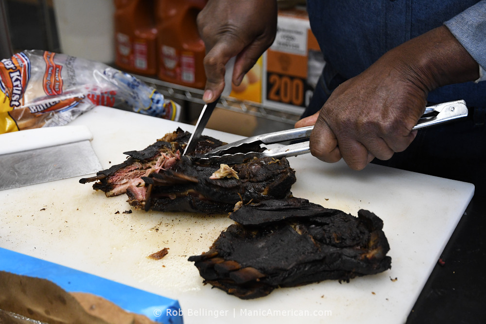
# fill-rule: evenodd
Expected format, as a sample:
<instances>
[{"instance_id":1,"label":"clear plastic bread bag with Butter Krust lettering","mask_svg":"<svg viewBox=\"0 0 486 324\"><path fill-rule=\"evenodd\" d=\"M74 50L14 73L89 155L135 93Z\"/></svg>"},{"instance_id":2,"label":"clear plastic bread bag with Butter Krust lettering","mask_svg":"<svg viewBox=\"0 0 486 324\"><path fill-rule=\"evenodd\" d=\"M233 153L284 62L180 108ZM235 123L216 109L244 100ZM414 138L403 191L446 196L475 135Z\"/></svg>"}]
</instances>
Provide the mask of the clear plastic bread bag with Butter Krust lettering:
<instances>
[{"instance_id":1,"label":"clear plastic bread bag with Butter Krust lettering","mask_svg":"<svg viewBox=\"0 0 486 324\"><path fill-rule=\"evenodd\" d=\"M128 73L49 51L22 51L1 60L0 89L0 134L65 125L96 105L128 105L171 120L178 120L181 110Z\"/></svg>"}]
</instances>

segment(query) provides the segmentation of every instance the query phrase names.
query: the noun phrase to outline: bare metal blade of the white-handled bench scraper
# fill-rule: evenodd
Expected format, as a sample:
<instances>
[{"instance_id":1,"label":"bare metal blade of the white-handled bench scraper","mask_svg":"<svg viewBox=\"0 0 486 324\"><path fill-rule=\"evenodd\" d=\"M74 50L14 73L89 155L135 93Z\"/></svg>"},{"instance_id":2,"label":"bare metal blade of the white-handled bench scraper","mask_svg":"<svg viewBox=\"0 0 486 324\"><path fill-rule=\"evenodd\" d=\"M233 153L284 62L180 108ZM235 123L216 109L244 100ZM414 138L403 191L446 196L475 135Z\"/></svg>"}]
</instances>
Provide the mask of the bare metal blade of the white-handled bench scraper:
<instances>
[{"instance_id":1,"label":"bare metal blade of the white-handled bench scraper","mask_svg":"<svg viewBox=\"0 0 486 324\"><path fill-rule=\"evenodd\" d=\"M0 190L103 170L88 140L0 155Z\"/></svg>"}]
</instances>

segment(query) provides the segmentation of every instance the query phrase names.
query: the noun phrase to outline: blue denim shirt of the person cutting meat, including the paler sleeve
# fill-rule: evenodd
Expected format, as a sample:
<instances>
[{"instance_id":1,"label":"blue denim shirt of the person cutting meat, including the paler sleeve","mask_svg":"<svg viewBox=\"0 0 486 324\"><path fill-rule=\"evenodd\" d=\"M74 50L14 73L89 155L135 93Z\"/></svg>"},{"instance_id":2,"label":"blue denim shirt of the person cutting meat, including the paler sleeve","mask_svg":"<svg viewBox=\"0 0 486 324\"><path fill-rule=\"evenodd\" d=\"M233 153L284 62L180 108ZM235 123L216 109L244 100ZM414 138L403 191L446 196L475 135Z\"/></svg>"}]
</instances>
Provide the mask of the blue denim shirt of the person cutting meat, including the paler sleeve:
<instances>
[{"instance_id":1,"label":"blue denim shirt of the person cutting meat, including the paler sleeve","mask_svg":"<svg viewBox=\"0 0 486 324\"><path fill-rule=\"evenodd\" d=\"M486 68L486 0L308 0L307 8L326 62L344 80L444 23ZM428 100L486 107L485 94L486 82L468 82L440 87Z\"/></svg>"}]
</instances>

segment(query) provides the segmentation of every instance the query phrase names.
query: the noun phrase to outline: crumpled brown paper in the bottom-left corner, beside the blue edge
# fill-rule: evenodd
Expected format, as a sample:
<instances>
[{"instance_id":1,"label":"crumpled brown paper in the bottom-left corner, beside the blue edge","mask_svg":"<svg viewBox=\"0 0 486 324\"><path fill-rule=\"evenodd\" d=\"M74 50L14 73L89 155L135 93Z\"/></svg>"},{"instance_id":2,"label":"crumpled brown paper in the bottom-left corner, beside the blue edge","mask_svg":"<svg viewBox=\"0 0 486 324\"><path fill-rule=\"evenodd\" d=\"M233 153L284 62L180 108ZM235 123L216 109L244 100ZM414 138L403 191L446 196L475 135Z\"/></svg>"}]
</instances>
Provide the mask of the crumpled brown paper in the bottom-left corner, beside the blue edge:
<instances>
[{"instance_id":1,"label":"crumpled brown paper in the bottom-left corner, beside the blue edge","mask_svg":"<svg viewBox=\"0 0 486 324\"><path fill-rule=\"evenodd\" d=\"M12 314L21 315L18 318ZM27 318L22 319L22 316ZM89 293L69 293L52 281L0 271L0 324L154 324Z\"/></svg>"}]
</instances>

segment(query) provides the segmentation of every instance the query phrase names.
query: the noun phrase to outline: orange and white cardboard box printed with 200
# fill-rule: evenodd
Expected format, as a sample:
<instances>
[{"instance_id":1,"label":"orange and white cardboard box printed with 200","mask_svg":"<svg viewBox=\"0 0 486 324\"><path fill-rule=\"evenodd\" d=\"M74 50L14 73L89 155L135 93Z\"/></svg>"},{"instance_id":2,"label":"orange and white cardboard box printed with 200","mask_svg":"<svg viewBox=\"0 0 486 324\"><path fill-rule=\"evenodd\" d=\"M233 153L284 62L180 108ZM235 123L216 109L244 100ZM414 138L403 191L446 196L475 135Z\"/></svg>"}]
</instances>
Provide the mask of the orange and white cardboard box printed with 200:
<instances>
[{"instance_id":1,"label":"orange and white cardboard box printed with 200","mask_svg":"<svg viewBox=\"0 0 486 324\"><path fill-rule=\"evenodd\" d=\"M307 11L280 10L276 39L264 54L262 103L303 112L324 65Z\"/></svg>"}]
</instances>

